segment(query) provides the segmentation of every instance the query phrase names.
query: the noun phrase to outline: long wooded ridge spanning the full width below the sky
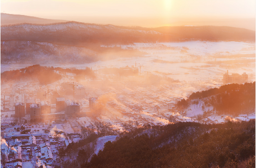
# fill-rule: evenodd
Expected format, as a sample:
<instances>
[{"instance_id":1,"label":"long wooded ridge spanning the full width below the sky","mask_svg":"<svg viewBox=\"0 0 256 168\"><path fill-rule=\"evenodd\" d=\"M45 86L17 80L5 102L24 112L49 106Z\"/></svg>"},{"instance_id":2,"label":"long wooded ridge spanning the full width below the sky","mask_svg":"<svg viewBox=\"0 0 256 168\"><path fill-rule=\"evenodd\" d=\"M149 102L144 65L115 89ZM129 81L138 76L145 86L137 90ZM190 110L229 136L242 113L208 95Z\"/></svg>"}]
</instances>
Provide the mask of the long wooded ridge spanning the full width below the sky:
<instances>
[{"instance_id":1,"label":"long wooded ridge spanning the full width below the sky","mask_svg":"<svg viewBox=\"0 0 256 168\"><path fill-rule=\"evenodd\" d=\"M55 24L12 24L1 26L1 41L34 41L58 45L85 46L182 41L255 42L255 31L225 26L123 27L62 22Z\"/></svg>"}]
</instances>

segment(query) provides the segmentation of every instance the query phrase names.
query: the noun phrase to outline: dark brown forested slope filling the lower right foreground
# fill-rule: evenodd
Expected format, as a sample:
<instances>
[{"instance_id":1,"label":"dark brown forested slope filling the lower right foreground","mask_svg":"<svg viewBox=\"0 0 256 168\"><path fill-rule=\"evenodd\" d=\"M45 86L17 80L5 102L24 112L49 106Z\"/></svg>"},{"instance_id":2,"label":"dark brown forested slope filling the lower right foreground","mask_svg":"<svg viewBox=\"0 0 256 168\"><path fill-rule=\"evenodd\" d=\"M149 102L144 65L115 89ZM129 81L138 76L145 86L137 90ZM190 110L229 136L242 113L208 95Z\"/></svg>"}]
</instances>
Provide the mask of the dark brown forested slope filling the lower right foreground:
<instances>
[{"instance_id":1,"label":"dark brown forested slope filling the lower right foreground","mask_svg":"<svg viewBox=\"0 0 256 168\"><path fill-rule=\"evenodd\" d=\"M154 129L159 130L156 137L131 136L132 132L108 141L81 168L255 167L255 120L217 125L180 122ZM175 136L185 138L168 140ZM164 140L169 143L162 145Z\"/></svg>"}]
</instances>

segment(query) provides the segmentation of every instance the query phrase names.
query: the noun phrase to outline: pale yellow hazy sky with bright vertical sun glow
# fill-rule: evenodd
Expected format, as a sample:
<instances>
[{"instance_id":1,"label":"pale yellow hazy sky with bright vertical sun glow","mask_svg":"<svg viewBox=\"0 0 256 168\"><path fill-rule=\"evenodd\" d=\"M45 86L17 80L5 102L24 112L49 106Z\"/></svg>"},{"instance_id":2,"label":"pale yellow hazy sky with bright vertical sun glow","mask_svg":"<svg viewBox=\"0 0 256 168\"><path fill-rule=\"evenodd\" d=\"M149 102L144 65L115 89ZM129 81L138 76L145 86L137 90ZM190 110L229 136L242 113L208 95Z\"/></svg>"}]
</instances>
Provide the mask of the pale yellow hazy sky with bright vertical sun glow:
<instances>
[{"instance_id":1,"label":"pale yellow hazy sky with bright vertical sun glow","mask_svg":"<svg viewBox=\"0 0 256 168\"><path fill-rule=\"evenodd\" d=\"M255 18L255 0L1 0L1 12L99 24ZM111 23L109 23L111 22Z\"/></svg>"}]
</instances>

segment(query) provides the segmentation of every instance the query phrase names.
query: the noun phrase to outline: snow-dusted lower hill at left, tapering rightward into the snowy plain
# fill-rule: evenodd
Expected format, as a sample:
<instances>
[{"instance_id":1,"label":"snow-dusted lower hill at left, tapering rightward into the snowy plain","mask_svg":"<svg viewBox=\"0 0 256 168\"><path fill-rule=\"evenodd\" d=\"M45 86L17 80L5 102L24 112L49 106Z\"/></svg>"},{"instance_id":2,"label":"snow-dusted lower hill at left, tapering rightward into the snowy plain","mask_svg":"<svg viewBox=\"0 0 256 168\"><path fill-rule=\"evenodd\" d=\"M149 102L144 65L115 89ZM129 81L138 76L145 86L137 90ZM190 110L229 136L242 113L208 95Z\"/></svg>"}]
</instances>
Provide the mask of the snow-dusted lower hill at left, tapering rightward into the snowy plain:
<instances>
[{"instance_id":1,"label":"snow-dusted lower hill at left, tapering rightward into the snowy plain","mask_svg":"<svg viewBox=\"0 0 256 168\"><path fill-rule=\"evenodd\" d=\"M98 45L76 47L33 41L1 42L1 64L82 64L121 57L139 57L142 54L136 49Z\"/></svg>"}]
</instances>

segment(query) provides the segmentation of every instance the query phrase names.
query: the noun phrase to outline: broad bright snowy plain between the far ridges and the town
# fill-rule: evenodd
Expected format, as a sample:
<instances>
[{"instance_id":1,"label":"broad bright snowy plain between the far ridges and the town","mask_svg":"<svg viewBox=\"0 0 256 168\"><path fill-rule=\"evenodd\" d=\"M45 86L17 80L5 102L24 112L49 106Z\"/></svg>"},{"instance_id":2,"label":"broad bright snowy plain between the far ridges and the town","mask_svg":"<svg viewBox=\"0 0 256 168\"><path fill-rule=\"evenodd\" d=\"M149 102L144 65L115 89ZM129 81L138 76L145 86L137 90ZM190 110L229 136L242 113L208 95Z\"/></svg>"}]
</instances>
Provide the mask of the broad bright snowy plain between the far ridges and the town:
<instances>
[{"instance_id":1,"label":"broad bright snowy plain between the far ridges and the town","mask_svg":"<svg viewBox=\"0 0 256 168\"><path fill-rule=\"evenodd\" d=\"M103 47L103 46L102 46ZM113 46L104 46L113 47ZM255 80L255 57L237 56L237 54L255 54L255 43L244 42L181 42L181 43L134 43L133 45L121 45L122 48L134 48L144 54L137 58L118 58L109 61L98 61L76 65L46 65L63 68L92 67L99 70L104 67L125 67L141 65L141 74L145 71L156 73L169 73L168 77L174 80L195 82L209 79L221 79L223 74L229 70L230 73L249 74L249 80ZM236 55L235 58L232 56ZM246 65L239 67L220 61L249 60ZM1 72L27 67L29 65L1 65ZM250 75L251 74L251 75ZM166 74L165 74L166 75ZM249 82L249 81L248 81Z\"/></svg>"}]
</instances>

